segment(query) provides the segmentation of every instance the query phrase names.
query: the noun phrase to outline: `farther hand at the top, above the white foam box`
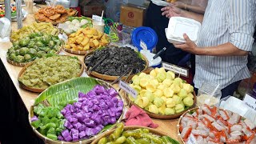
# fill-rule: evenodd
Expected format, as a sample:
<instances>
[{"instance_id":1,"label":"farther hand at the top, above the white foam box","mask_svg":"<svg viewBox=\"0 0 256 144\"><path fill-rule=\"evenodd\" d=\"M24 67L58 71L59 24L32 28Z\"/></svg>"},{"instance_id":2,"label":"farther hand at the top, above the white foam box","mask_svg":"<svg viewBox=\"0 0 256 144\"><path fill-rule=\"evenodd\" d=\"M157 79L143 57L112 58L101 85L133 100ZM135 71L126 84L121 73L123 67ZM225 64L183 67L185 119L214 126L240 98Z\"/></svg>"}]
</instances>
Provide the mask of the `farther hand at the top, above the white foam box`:
<instances>
[{"instance_id":1,"label":"farther hand at the top, above the white foam box","mask_svg":"<svg viewBox=\"0 0 256 144\"><path fill-rule=\"evenodd\" d=\"M161 10L162 10L162 15L166 16L166 18L182 16L182 10L176 6L166 6Z\"/></svg>"}]
</instances>

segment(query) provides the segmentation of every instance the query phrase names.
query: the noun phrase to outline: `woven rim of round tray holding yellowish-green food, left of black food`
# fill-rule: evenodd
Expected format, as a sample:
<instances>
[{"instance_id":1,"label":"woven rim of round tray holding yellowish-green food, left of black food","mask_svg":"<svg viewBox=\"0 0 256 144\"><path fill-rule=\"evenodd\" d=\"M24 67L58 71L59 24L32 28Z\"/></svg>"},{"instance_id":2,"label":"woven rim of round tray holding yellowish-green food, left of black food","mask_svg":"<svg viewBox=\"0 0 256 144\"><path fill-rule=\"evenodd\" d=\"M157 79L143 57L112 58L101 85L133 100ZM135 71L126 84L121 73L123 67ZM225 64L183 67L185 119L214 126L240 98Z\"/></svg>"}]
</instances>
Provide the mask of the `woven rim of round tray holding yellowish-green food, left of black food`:
<instances>
[{"instance_id":1,"label":"woven rim of round tray holding yellowish-green food, left of black food","mask_svg":"<svg viewBox=\"0 0 256 144\"><path fill-rule=\"evenodd\" d=\"M70 56L68 56L68 55L62 55L61 57L70 57ZM80 77L80 76L82 75L82 73L84 72L85 65L84 65L84 64L82 63L82 61L80 61L79 59L78 59L78 61L81 63L81 69L80 69L79 74L78 74L78 77ZM35 62L35 61L34 61L34 62ZM22 77L22 75L25 74L25 72L26 72L26 68L29 67L29 66L31 66L31 65L33 65L34 62L30 62L29 64L27 64L26 66L24 66L24 67L22 68L22 70L19 72L18 78ZM19 82L19 81L18 81L18 83L19 83L19 86L21 86L23 89L25 89L25 90L30 90L30 91L35 92L35 93L41 93L43 90L46 90L46 89L38 89L38 88L30 87L30 86L25 86L22 82Z\"/></svg>"}]
</instances>

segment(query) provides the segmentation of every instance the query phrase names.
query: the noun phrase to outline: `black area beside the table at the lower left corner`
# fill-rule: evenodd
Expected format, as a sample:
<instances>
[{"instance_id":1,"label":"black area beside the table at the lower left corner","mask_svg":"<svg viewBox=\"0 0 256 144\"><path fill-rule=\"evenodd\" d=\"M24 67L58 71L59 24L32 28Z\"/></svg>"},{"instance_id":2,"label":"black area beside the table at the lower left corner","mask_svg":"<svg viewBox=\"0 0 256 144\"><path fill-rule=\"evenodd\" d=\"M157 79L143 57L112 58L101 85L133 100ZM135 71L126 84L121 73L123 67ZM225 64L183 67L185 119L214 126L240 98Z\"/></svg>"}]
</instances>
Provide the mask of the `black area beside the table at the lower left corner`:
<instances>
[{"instance_id":1,"label":"black area beside the table at the lower left corner","mask_svg":"<svg viewBox=\"0 0 256 144\"><path fill-rule=\"evenodd\" d=\"M0 142L1 144L44 143L28 121L28 111L0 60Z\"/></svg>"}]
</instances>

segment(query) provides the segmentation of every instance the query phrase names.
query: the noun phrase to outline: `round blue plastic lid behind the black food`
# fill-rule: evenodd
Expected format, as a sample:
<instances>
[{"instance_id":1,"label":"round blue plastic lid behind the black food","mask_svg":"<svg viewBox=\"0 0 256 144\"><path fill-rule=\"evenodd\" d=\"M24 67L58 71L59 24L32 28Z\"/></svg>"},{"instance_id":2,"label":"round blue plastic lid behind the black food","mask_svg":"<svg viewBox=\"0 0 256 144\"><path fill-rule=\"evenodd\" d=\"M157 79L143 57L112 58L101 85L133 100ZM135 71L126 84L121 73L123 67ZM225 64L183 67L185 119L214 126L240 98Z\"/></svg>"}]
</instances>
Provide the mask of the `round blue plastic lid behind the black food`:
<instances>
[{"instance_id":1,"label":"round blue plastic lid behind the black food","mask_svg":"<svg viewBox=\"0 0 256 144\"><path fill-rule=\"evenodd\" d=\"M140 46L142 41L146 43L147 50L152 52L153 48L158 43L158 35L150 27L141 26L133 31L131 40L139 51L142 50L142 47Z\"/></svg>"}]
</instances>

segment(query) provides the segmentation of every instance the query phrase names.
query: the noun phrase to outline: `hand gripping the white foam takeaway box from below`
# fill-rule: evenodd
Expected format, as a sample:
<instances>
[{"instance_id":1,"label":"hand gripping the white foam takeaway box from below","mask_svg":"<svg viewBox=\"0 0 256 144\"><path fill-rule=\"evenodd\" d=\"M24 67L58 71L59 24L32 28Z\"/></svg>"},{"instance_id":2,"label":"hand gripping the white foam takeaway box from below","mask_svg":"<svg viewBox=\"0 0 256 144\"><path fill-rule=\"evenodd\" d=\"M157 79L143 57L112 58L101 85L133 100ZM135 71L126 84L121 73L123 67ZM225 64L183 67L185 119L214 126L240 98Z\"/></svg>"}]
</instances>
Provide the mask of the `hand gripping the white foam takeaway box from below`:
<instances>
[{"instance_id":1,"label":"hand gripping the white foam takeaway box from below","mask_svg":"<svg viewBox=\"0 0 256 144\"><path fill-rule=\"evenodd\" d=\"M174 46L183 51L187 51L192 54L197 54L198 46L193 41L191 41L190 38L186 34L183 34L183 37L184 37L186 43L174 44Z\"/></svg>"}]
</instances>

